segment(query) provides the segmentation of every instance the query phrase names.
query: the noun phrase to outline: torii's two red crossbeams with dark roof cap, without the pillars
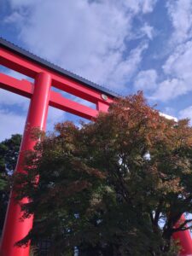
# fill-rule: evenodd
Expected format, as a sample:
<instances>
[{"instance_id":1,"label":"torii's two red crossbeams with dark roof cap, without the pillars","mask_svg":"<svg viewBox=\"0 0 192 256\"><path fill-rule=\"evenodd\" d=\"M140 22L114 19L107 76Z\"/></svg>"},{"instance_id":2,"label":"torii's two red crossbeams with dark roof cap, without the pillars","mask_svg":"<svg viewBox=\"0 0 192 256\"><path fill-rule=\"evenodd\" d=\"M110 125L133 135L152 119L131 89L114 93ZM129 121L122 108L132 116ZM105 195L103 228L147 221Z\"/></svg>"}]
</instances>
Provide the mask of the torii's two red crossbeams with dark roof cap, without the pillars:
<instances>
[{"instance_id":1,"label":"torii's two red crossbeams with dark roof cap, without the pillars","mask_svg":"<svg viewBox=\"0 0 192 256\"><path fill-rule=\"evenodd\" d=\"M32 79L35 79L38 73L49 73L52 79L52 86L95 103L97 110L73 102L53 90L51 91L49 105L63 109L69 113L78 114L87 119L96 117L98 110L100 110L99 106L102 106L102 108L104 106L104 108L107 109L108 105L113 102L113 99L119 96L98 84L94 84L87 79L83 79L74 73L55 66L49 61L45 61L25 49L20 49L20 47L9 43L3 38L0 38L0 64L31 77ZM0 87L5 90L31 97L32 86L33 84L27 80L20 81L0 73ZM104 99L102 97L103 94L107 96ZM79 113L79 109L83 109L81 113Z\"/></svg>"}]
</instances>

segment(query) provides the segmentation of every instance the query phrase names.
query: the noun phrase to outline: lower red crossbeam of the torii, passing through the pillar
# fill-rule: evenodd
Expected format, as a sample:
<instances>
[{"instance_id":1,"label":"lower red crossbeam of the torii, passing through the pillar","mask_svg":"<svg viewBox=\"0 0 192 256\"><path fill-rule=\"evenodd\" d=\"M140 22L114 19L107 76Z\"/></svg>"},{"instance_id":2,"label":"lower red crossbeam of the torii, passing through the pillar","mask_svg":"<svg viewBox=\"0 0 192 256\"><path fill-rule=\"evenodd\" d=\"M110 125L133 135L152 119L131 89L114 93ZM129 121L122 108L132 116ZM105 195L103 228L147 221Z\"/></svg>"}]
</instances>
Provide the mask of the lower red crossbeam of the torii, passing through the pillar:
<instances>
[{"instance_id":1,"label":"lower red crossbeam of the torii, passing through the pillar","mask_svg":"<svg viewBox=\"0 0 192 256\"><path fill-rule=\"evenodd\" d=\"M26 96L27 98L32 97L32 83L24 79L18 80L12 78L3 73L0 73L0 88L19 94L20 96ZM78 102L73 102L53 90L50 93L49 106L79 115L85 119L96 119L98 115L96 109L89 108Z\"/></svg>"}]
</instances>

